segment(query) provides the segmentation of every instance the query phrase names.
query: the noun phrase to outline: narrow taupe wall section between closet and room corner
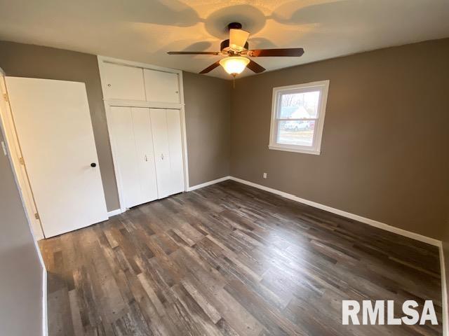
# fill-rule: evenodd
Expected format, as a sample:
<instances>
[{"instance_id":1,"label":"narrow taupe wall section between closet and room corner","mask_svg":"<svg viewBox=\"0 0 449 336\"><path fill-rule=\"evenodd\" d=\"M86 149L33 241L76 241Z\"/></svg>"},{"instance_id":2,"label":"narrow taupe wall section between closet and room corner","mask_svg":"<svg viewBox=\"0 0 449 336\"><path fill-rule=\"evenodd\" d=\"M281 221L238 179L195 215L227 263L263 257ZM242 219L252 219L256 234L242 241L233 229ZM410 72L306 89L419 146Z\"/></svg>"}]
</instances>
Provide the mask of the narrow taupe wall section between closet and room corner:
<instances>
[{"instance_id":1,"label":"narrow taupe wall section between closet and room corner","mask_svg":"<svg viewBox=\"0 0 449 336\"><path fill-rule=\"evenodd\" d=\"M230 88L228 80L183 73L189 184L229 175Z\"/></svg>"}]
</instances>

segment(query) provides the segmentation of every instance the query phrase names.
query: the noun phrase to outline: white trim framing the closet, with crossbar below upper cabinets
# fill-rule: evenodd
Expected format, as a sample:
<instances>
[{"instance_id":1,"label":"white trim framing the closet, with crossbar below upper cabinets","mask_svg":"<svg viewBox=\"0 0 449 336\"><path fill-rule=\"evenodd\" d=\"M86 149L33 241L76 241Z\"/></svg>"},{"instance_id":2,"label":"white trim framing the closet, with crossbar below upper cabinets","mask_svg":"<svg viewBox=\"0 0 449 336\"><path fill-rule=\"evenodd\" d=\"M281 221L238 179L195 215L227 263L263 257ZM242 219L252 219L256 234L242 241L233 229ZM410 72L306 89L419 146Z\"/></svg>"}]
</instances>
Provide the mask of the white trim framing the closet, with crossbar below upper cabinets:
<instances>
[{"instance_id":1,"label":"white trim framing the closet, with crossbar below upper cabinets","mask_svg":"<svg viewBox=\"0 0 449 336\"><path fill-rule=\"evenodd\" d=\"M136 66L143 69L151 69L157 71L166 71L170 73L177 73L179 76L179 87L180 87L180 103L161 103L161 102L142 102L142 101L127 101L127 100L119 100L119 99L105 99L107 97L106 94L106 86L105 82L105 69L103 64L105 62L122 64L128 66ZM103 93L103 103L105 104L105 112L106 112L106 120L107 120L107 130L109 132L109 142L111 145L112 152L112 161L114 162L114 171L116 177L117 191L119 193L119 203L120 203L120 211L126 211L125 203L123 202L123 184L120 176L120 170L118 169L118 157L116 155L116 145L114 144L114 135L111 130L111 107L112 106L126 106L126 107L147 107L149 109L179 109L181 116L181 137L182 137L182 163L184 165L184 191L189 190L189 160L187 158L187 132L186 132L186 120L185 120L185 103L184 103L184 82L182 79L182 70L163 68L161 66L155 66L152 64L145 64L140 62L127 61L124 59L116 59L112 57L98 56L98 69L100 71L100 80L102 86ZM116 210L111 211L116 214Z\"/></svg>"}]
</instances>

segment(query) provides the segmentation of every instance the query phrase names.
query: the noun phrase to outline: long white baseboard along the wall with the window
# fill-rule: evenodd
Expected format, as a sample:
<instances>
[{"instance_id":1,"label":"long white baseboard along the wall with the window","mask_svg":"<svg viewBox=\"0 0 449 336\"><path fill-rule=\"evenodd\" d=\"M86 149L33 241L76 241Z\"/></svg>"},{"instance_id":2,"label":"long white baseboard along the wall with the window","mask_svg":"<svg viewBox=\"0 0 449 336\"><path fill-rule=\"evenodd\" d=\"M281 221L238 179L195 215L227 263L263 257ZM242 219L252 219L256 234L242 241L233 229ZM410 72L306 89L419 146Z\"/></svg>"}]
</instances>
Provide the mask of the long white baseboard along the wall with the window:
<instances>
[{"instance_id":1,"label":"long white baseboard along the wall with the window","mask_svg":"<svg viewBox=\"0 0 449 336\"><path fill-rule=\"evenodd\" d=\"M419 235L419 234L417 234L415 232L410 232L410 231L407 231L407 230L396 228L394 226L391 226L391 225L388 225L388 224L385 224L385 223L381 223L379 221L375 221L375 220L370 219L370 218L358 216L356 214L351 214L350 212L347 212L347 211L335 209L333 207L328 207L327 205L324 205L324 204L320 204L320 203L316 203L316 202L313 202L313 201L305 200L304 198L297 197L297 196L289 194L289 193L284 193L281 190L276 190L276 189L269 188L269 187L266 187L266 186L261 186L260 184L253 183L253 182L246 181L246 180L242 180L242 179L236 178L234 176L231 176L231 179L233 181L237 181L237 182L246 184L248 186L252 186L254 188L265 190L265 191L268 191L269 193L273 193L273 194L279 195L281 197L288 198L288 200L293 200L295 202L300 202L302 204L306 204L306 205L309 205L311 207L315 207L315 208L318 208L318 209L321 209L321 210L325 210L325 211L331 212L333 214L337 214L337 215L340 215L340 216L343 216L343 217L346 217L346 218L354 219L354 221L365 223L365 224L374 226L375 228L380 228L382 230L393 232L393 233L396 233L396 234L401 235L401 236L405 236L405 237L408 237L408 238L411 238L411 239L415 239L415 240L418 240L418 241L423 241L424 243L431 244L431 245L434 245L434 246L440 246L441 245L441 241L438 240L438 239L434 239L434 238L426 237L426 236L423 236L423 235Z\"/></svg>"}]
</instances>

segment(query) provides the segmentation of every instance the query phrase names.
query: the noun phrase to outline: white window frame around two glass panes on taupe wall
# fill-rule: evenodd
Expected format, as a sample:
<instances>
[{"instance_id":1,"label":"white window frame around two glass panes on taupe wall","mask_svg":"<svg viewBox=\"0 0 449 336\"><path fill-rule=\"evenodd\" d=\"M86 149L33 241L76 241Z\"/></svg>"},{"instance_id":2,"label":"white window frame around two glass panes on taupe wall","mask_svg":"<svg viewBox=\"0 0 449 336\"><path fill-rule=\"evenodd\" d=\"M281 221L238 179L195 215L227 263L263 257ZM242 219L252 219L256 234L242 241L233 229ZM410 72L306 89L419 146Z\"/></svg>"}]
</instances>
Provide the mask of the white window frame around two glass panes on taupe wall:
<instances>
[{"instance_id":1,"label":"white window frame around two glass panes on taupe wall","mask_svg":"<svg viewBox=\"0 0 449 336\"><path fill-rule=\"evenodd\" d=\"M288 145L279 144L277 139L277 133L279 130L279 121L287 120L277 118L278 111L280 111L281 105L281 94L286 93L302 93L319 90L320 99L318 103L318 118L315 124L314 139L312 141L312 146L300 146L300 145ZM323 137L323 127L324 127L324 116L326 115L326 103L328 102L328 90L329 90L329 80L321 80L318 82L304 83L297 85L288 85L281 87L273 87L273 98L272 98L272 121L270 124L269 132L269 149L274 149L276 151L288 151L296 153L307 153L320 155L321 153L321 138ZM292 119L288 119L292 120ZM297 120L297 119L293 119ZM302 120L302 119L301 119ZM304 119L307 120L307 119Z\"/></svg>"}]
</instances>

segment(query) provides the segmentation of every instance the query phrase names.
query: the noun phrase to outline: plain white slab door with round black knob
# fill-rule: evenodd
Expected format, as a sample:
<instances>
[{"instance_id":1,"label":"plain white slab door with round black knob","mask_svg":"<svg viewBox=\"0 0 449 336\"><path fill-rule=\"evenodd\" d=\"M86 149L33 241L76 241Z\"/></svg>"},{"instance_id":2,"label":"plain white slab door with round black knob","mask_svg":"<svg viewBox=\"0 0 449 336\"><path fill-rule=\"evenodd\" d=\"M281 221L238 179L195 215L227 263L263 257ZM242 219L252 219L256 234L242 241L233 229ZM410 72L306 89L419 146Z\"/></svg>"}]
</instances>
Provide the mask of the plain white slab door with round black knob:
<instances>
[{"instance_id":1,"label":"plain white slab door with round black knob","mask_svg":"<svg viewBox=\"0 0 449 336\"><path fill-rule=\"evenodd\" d=\"M105 221L84 83L6 77L6 86L44 235Z\"/></svg>"}]
</instances>

